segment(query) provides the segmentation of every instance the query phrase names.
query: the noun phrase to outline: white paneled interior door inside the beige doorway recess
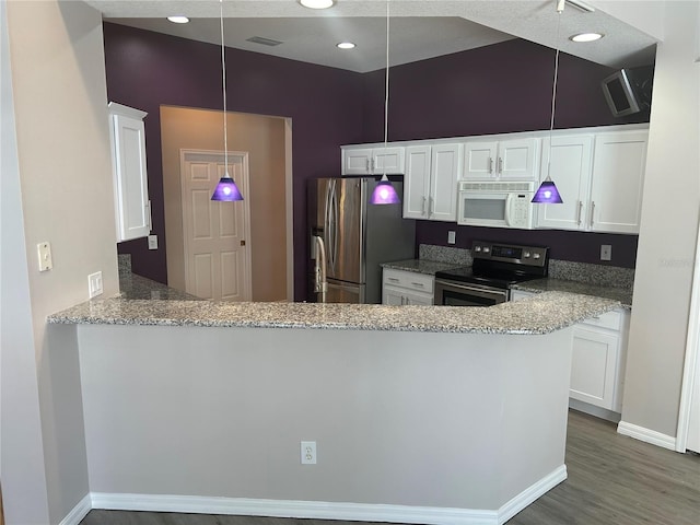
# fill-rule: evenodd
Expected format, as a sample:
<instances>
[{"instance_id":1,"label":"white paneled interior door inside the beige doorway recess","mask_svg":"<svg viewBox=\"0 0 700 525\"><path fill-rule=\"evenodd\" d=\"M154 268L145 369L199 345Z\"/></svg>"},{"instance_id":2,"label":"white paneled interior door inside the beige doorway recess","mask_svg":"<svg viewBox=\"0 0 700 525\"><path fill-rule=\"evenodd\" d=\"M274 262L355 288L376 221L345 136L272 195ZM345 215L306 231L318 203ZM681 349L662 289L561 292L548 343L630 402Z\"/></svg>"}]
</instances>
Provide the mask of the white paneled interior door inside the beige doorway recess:
<instances>
[{"instance_id":1,"label":"white paneled interior door inside the beige doorway recess","mask_svg":"<svg viewBox=\"0 0 700 525\"><path fill-rule=\"evenodd\" d=\"M180 159L185 291L214 301L250 301L248 155L229 153L229 173L244 198L235 202L211 200L225 172L223 153L183 151Z\"/></svg>"}]
</instances>

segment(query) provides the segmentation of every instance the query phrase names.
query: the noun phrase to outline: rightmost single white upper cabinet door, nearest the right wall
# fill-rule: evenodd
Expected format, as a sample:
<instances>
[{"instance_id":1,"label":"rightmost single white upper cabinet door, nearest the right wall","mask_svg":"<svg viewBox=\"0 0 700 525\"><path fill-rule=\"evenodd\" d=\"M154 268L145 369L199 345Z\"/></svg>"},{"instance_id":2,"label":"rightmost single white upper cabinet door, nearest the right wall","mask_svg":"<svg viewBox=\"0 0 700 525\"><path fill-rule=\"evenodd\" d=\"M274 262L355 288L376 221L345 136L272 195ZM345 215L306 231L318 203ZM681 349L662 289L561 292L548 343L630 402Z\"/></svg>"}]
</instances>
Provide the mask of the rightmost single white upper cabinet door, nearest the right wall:
<instances>
[{"instance_id":1,"label":"rightmost single white upper cabinet door, nearest the right wall","mask_svg":"<svg viewBox=\"0 0 700 525\"><path fill-rule=\"evenodd\" d=\"M648 131L595 138L590 224L594 232L639 233Z\"/></svg>"}]
</instances>

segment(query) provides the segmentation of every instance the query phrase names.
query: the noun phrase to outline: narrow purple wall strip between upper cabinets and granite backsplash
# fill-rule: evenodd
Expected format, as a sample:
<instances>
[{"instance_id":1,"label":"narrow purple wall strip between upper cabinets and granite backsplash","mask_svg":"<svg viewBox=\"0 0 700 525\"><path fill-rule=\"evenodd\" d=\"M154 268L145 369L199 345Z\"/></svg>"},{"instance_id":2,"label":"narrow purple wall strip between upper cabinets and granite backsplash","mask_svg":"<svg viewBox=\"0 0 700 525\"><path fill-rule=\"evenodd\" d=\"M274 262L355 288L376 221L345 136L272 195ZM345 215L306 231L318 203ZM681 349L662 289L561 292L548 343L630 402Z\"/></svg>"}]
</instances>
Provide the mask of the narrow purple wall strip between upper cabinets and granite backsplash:
<instances>
[{"instance_id":1,"label":"narrow purple wall strip between upper cabinets and granite backsplash","mask_svg":"<svg viewBox=\"0 0 700 525\"><path fill-rule=\"evenodd\" d=\"M634 268L637 235L564 232L560 230L509 230L504 228L458 226L454 222L416 222L416 244L447 245L447 232L456 231L456 248L471 248L474 241L549 246L552 259ZM612 246L612 260L600 260L600 245Z\"/></svg>"}]
</instances>

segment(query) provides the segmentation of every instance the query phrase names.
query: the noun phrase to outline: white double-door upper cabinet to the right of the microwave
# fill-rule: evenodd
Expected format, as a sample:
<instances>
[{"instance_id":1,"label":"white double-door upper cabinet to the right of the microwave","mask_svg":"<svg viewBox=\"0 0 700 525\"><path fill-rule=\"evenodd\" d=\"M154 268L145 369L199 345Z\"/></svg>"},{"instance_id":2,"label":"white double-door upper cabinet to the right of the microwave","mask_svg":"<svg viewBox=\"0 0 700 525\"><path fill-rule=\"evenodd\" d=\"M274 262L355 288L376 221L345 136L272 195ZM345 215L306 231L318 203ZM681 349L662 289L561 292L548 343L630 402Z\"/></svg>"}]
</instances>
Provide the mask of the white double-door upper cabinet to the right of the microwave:
<instances>
[{"instance_id":1,"label":"white double-door upper cabinet to the right of the microwave","mask_svg":"<svg viewBox=\"0 0 700 525\"><path fill-rule=\"evenodd\" d=\"M562 205L539 205L538 228L639 233L648 130L545 139L540 179L550 175Z\"/></svg>"}]
</instances>

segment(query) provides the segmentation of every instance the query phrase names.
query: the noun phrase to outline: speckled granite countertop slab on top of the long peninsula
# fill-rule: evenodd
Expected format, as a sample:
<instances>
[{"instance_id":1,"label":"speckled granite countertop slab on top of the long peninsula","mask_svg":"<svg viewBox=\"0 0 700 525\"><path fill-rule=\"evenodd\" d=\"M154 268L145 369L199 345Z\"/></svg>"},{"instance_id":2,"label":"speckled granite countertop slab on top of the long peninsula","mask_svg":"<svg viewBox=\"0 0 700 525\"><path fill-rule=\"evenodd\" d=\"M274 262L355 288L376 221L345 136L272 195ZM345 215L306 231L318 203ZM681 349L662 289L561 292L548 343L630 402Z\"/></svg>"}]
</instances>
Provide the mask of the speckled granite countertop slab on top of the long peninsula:
<instances>
[{"instance_id":1,"label":"speckled granite countertop slab on top of the long peninsula","mask_svg":"<svg viewBox=\"0 0 700 525\"><path fill-rule=\"evenodd\" d=\"M617 307L618 301L567 292L539 293L488 308L117 298L79 304L49 316L48 323L536 335Z\"/></svg>"}]
</instances>

